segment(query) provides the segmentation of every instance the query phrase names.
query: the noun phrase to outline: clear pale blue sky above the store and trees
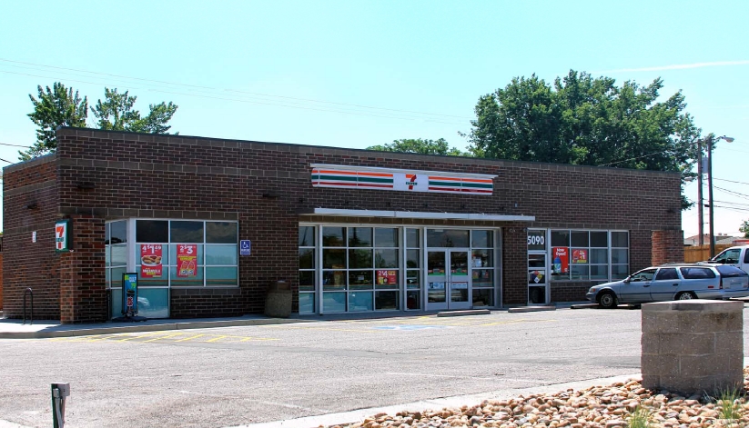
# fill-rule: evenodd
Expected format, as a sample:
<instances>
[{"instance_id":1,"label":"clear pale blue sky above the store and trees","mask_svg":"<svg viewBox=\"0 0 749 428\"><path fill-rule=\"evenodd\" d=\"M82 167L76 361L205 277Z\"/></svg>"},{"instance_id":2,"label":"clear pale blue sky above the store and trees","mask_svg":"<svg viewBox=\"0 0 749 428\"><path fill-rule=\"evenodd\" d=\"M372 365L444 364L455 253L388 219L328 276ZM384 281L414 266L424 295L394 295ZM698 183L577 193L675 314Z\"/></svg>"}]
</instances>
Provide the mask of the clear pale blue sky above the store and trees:
<instances>
[{"instance_id":1,"label":"clear pale blue sky above the store and trees","mask_svg":"<svg viewBox=\"0 0 749 428\"><path fill-rule=\"evenodd\" d=\"M28 95L56 81L91 105L105 86L137 95L141 112L172 101L180 134L355 148L445 138L462 149L479 96L514 76L660 76L704 134L735 137L714 152L715 232L739 234L748 17L745 0L9 2L0 144L35 141ZM16 162L17 150L0 145L0 158ZM696 184L685 194L696 199ZM683 213L685 234L697 223L696 209Z\"/></svg>"}]
</instances>

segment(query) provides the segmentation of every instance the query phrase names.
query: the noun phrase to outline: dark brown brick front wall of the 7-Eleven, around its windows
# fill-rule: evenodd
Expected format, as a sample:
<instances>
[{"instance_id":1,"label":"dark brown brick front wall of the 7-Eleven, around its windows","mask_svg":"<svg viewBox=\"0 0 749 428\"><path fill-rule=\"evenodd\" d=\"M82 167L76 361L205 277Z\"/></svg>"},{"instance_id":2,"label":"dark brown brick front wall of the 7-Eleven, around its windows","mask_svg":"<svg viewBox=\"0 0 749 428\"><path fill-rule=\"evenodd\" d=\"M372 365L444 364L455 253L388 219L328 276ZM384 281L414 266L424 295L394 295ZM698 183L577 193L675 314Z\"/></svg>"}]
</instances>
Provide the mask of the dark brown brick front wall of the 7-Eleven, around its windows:
<instances>
[{"instance_id":1,"label":"dark brown brick front wall of the 7-Eleven, around its windows","mask_svg":"<svg viewBox=\"0 0 749 428\"><path fill-rule=\"evenodd\" d=\"M240 288L172 290L175 317L260 313L272 281L287 280L297 290L297 227L300 221L316 219L300 215L315 207L535 215L532 223L486 224L502 228L505 304L523 304L527 299L528 227L629 230L633 268L651 264L653 230L678 234L681 227L678 174L69 128L58 131L58 139L56 214L104 220L238 220L240 239L252 240L253 254L240 257ZM310 164L496 174L497 178L491 196L326 189L311 186ZM25 168L18 167L14 174L25 174ZM93 188L86 189L90 185ZM18 204L11 206L20 210ZM335 217L334 221L477 225L366 217ZM103 229L96 233L103 242ZM14 239L20 243L21 236ZM581 288L581 284L555 284L552 294L577 294ZM295 310L296 306L295 301Z\"/></svg>"}]
</instances>

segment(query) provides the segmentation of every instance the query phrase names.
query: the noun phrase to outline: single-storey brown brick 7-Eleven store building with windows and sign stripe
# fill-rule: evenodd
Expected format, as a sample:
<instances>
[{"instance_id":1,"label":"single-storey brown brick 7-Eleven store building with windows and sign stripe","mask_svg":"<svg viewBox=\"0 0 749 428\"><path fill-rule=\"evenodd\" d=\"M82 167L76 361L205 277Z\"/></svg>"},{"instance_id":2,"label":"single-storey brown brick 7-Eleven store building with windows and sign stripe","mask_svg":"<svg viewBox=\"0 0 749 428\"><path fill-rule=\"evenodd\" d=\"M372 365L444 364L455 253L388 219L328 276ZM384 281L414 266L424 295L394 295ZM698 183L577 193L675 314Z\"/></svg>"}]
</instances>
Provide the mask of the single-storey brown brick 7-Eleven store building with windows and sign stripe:
<instances>
[{"instance_id":1,"label":"single-storey brown brick 7-Eleven store building with windows and sign stripe","mask_svg":"<svg viewBox=\"0 0 749 428\"><path fill-rule=\"evenodd\" d=\"M61 128L4 170L3 307L139 314L430 311L580 301L683 260L679 174ZM63 222L66 221L66 222ZM65 239L66 238L66 239ZM248 248L241 248L246 242ZM249 253L249 254L248 254Z\"/></svg>"}]
</instances>

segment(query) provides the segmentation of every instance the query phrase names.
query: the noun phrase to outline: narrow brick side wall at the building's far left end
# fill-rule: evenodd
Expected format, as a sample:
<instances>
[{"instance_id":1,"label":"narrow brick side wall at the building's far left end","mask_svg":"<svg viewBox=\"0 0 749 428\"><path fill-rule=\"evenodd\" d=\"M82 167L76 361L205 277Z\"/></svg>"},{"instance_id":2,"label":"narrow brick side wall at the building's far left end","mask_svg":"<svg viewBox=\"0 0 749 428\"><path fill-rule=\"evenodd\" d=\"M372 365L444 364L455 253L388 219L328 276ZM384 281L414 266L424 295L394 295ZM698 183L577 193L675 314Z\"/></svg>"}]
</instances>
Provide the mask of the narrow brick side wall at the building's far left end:
<instances>
[{"instance_id":1,"label":"narrow brick side wall at the building's far left end","mask_svg":"<svg viewBox=\"0 0 749 428\"><path fill-rule=\"evenodd\" d=\"M31 288L34 318L60 319L55 161L55 155L47 155L4 170L3 311L9 318L23 316L24 292Z\"/></svg>"}]
</instances>

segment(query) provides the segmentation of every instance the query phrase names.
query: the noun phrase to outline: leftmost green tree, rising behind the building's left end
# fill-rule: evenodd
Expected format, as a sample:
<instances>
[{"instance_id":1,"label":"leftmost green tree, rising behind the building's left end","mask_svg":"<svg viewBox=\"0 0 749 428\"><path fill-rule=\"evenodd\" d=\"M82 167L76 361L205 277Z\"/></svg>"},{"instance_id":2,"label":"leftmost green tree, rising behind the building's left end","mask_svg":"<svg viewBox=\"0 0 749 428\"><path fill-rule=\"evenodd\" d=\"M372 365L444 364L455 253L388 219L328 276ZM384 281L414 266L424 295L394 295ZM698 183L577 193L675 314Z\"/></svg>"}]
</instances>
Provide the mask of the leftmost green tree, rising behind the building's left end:
<instances>
[{"instance_id":1,"label":"leftmost green tree, rising behind the building's left end","mask_svg":"<svg viewBox=\"0 0 749 428\"><path fill-rule=\"evenodd\" d=\"M52 89L41 85L36 87L39 98L29 94L34 111L27 114L38 126L36 142L27 151L18 151L19 159L27 161L33 157L52 153L57 148L56 129L58 126L86 126L88 116L88 100L73 92L73 88L55 82Z\"/></svg>"}]
</instances>

